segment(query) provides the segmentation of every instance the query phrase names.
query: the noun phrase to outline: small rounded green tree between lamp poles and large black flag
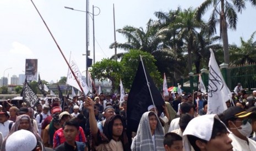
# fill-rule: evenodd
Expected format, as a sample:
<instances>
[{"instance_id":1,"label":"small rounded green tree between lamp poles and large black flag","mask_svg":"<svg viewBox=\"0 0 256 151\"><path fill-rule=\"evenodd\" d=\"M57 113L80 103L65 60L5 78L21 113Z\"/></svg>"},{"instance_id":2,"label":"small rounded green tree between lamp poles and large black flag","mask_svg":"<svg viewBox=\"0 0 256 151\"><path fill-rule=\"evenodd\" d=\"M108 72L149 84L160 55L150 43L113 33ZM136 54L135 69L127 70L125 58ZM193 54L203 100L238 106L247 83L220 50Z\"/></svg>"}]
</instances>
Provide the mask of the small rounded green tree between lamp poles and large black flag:
<instances>
[{"instance_id":1,"label":"small rounded green tree between lamp poles and large black flag","mask_svg":"<svg viewBox=\"0 0 256 151\"><path fill-rule=\"evenodd\" d=\"M111 59L102 59L96 62L90 69L91 77L100 81L111 80L112 92L114 92L119 85L122 75L123 66L120 62Z\"/></svg>"}]
</instances>

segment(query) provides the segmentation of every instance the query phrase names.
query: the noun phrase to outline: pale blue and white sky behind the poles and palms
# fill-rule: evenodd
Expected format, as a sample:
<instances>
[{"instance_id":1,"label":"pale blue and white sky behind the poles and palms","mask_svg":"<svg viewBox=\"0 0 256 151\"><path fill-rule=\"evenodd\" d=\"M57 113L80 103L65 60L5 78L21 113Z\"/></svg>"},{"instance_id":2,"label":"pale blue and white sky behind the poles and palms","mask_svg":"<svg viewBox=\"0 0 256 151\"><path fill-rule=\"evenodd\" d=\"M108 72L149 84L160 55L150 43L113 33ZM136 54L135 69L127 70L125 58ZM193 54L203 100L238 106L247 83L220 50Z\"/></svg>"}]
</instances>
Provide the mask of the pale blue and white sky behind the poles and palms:
<instances>
[{"instance_id":1,"label":"pale blue and white sky behind the poles and palms","mask_svg":"<svg viewBox=\"0 0 256 151\"><path fill-rule=\"evenodd\" d=\"M92 5L100 8L100 14L95 16L95 60L112 56L115 51L109 49L114 41L113 36L113 3L115 3L116 29L126 25L145 28L150 18L155 19L155 11L175 10L198 7L203 0L95 0L89 1L89 11ZM70 51L76 58L80 71L85 71L85 13L65 9L72 7L78 10L86 9L85 0L34 0L43 19L56 38L59 47L69 59ZM95 14L97 13L95 8ZM240 37L247 40L256 31L256 9L247 4L247 9L238 15L237 31L228 31L230 44L240 45ZM206 17L205 17L206 19ZM38 59L38 71L41 79L57 82L66 76L68 66L61 53L43 25L30 0L0 1L0 77L4 69L5 75L18 75L25 71L25 59ZM89 50L92 56L92 20L89 21ZM217 27L219 30L219 27ZM121 34L116 33L117 42L125 42ZM122 52L123 50L117 50Z\"/></svg>"}]
</instances>

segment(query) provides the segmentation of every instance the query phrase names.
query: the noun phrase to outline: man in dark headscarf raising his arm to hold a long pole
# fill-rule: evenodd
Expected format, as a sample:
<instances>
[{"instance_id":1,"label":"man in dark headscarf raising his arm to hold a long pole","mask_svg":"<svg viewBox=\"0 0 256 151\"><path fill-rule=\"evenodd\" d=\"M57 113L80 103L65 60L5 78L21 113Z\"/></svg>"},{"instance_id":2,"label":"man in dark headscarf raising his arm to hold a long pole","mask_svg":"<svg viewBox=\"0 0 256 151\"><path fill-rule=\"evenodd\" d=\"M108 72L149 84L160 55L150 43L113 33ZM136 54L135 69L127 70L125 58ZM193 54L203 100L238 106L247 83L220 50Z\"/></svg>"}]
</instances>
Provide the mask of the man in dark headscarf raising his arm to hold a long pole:
<instances>
[{"instance_id":1,"label":"man in dark headscarf raising his arm to hold a long pole","mask_svg":"<svg viewBox=\"0 0 256 151\"><path fill-rule=\"evenodd\" d=\"M85 107L89 110L92 148L96 150L108 149L113 151L130 150L120 115L112 115L107 118L104 124L104 131L101 133L97 128L94 115L94 102L89 97L85 101Z\"/></svg>"}]
</instances>

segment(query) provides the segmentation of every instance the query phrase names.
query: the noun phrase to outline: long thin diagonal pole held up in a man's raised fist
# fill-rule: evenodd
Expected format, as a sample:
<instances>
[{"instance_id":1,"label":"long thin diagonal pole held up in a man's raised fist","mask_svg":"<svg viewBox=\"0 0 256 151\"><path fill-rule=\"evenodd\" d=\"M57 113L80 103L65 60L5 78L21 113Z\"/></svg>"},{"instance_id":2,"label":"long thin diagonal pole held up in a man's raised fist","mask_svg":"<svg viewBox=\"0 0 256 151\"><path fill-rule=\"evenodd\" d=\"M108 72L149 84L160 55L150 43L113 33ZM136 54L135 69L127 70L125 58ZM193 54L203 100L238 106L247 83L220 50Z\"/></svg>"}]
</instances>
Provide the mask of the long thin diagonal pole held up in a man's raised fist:
<instances>
[{"instance_id":1,"label":"long thin diagonal pole held up in a man's raised fist","mask_svg":"<svg viewBox=\"0 0 256 151\"><path fill-rule=\"evenodd\" d=\"M69 65L69 63L68 63L68 60L67 60L67 59L66 59L66 57L64 56L64 54L63 54L63 52L62 52L61 48L59 47L59 45L58 45L58 43L57 43L56 39L53 37L53 34L52 34L52 32L50 31L50 28L47 26L47 24L46 24L45 20L43 20L43 18L42 18L42 16L41 16L41 14L40 14L39 10L36 8L36 5L34 4L34 2L33 2L32 0L31 0L31 2L32 2L32 4L34 5L34 7L35 7L35 9L36 9L37 13L40 15L40 18L42 19L43 24L45 24L45 26L46 26L47 30L48 30L48 31L49 31L49 33L51 34L52 39L54 40L55 44L57 45L57 47L58 47L58 49L59 49L59 52L61 52L61 54L62 54L62 56L63 56L64 60L66 61L67 65L68 65L68 67L69 67L69 69L70 69L70 71L71 71L71 72L72 72L72 74L74 75L75 80L77 81L77 83L78 83L78 85L79 85L79 87L80 87L81 91L83 92L84 97L86 98L86 94L84 93L83 87L80 85L80 83L79 83L79 81L78 81L78 79L77 79L77 76L75 75L74 71L73 71L73 70L72 70L72 68L70 67L70 65ZM87 54L87 53L86 53L86 54Z\"/></svg>"}]
</instances>

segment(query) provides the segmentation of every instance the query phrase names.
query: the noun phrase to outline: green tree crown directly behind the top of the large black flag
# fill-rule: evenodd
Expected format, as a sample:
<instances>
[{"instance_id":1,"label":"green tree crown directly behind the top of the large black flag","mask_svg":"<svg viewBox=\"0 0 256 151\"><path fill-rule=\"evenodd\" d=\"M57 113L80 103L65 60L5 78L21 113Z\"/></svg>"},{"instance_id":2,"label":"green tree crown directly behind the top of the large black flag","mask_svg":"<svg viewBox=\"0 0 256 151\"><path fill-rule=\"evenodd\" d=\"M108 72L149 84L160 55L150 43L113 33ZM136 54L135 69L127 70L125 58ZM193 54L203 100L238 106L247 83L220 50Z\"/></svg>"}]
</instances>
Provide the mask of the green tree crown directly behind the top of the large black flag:
<instances>
[{"instance_id":1,"label":"green tree crown directly behind the top of the large black flag","mask_svg":"<svg viewBox=\"0 0 256 151\"><path fill-rule=\"evenodd\" d=\"M140 55L142 56L144 66L147 67L155 85L159 86L162 83L160 72L157 71L157 67L155 65L156 60L154 59L154 56L140 50L130 50L129 53L124 55L121 60L123 65L122 83L125 89L129 90L132 87L140 61Z\"/></svg>"}]
</instances>

